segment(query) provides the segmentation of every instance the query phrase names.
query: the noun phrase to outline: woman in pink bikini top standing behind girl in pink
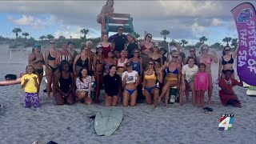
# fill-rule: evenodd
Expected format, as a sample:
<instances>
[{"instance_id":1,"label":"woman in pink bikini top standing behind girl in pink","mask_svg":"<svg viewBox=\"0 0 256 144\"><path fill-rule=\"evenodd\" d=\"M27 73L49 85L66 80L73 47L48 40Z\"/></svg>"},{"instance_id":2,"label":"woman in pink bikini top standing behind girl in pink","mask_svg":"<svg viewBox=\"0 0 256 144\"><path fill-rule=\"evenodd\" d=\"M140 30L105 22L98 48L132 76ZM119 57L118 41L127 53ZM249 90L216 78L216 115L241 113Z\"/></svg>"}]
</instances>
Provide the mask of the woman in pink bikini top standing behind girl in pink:
<instances>
[{"instance_id":1,"label":"woman in pink bikini top standing behind girl in pink","mask_svg":"<svg viewBox=\"0 0 256 144\"><path fill-rule=\"evenodd\" d=\"M218 57L215 53L215 51L213 51L213 54L208 54L209 52L209 46L206 44L203 44L202 46L200 46L200 50L201 50L201 55L198 57L198 63L204 63L206 65L206 73L209 74L209 89L208 89L208 104L210 104L211 102L211 97L213 95L213 78L211 76L211 62L218 62Z\"/></svg>"}]
</instances>

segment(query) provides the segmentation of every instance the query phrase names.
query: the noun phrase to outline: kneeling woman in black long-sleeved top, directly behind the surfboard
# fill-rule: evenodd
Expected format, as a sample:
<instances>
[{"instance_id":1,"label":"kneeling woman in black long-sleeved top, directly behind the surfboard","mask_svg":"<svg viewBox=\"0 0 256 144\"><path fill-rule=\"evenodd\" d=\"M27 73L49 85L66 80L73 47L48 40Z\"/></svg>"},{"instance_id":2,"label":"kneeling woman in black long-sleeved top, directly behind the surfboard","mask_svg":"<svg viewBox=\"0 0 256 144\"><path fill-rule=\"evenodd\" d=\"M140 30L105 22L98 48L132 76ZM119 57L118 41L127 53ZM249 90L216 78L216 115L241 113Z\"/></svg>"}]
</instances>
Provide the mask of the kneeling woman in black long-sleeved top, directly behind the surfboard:
<instances>
[{"instance_id":1,"label":"kneeling woman in black long-sleeved top, directly behind the surfboard","mask_svg":"<svg viewBox=\"0 0 256 144\"><path fill-rule=\"evenodd\" d=\"M118 106L118 88L120 85L120 76L116 74L117 67L110 66L110 74L104 76L105 86L105 106Z\"/></svg>"}]
</instances>

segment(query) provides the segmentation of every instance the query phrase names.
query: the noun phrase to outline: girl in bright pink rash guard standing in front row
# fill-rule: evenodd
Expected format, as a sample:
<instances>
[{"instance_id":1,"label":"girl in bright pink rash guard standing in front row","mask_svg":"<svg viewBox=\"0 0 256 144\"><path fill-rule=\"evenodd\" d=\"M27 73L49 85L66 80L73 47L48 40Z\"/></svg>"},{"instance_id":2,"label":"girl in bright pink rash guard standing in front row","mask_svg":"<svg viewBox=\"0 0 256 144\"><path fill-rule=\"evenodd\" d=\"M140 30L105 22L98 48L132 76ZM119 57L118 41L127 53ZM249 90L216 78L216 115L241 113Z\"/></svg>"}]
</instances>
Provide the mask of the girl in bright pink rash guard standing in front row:
<instances>
[{"instance_id":1,"label":"girl in bright pink rash guard standing in front row","mask_svg":"<svg viewBox=\"0 0 256 144\"><path fill-rule=\"evenodd\" d=\"M204 107L205 106L205 92L208 90L209 86L209 76L206 73L206 65L204 63L200 63L199 72L196 74L194 78L194 86L196 92L196 105Z\"/></svg>"}]
</instances>

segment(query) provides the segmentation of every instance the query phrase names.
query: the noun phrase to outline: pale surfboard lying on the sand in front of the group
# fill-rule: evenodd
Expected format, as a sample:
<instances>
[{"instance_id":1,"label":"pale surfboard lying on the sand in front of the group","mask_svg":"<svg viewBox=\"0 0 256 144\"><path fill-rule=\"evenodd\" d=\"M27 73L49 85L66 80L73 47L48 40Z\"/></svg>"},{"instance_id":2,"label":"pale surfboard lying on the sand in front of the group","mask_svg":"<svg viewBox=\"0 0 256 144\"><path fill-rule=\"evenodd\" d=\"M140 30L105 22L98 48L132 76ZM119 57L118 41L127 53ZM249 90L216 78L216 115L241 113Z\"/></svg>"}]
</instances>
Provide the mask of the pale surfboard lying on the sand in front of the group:
<instances>
[{"instance_id":1,"label":"pale surfboard lying on the sand in front of the group","mask_svg":"<svg viewBox=\"0 0 256 144\"><path fill-rule=\"evenodd\" d=\"M94 119L94 128L98 135L110 136L122 122L122 109L105 107L98 111Z\"/></svg>"}]
</instances>

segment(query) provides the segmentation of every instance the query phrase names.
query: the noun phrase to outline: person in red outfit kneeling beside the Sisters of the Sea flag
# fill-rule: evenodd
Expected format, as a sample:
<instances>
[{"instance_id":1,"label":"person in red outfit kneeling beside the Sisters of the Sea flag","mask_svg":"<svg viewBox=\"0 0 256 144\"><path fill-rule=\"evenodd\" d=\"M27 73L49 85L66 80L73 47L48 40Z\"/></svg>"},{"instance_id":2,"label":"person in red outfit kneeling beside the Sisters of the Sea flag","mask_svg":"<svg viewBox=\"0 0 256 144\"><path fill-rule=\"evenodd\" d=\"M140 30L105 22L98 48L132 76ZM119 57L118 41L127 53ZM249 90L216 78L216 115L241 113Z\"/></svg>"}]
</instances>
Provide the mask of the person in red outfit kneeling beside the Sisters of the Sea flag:
<instances>
[{"instance_id":1,"label":"person in red outfit kneeling beside the Sisters of the Sea flag","mask_svg":"<svg viewBox=\"0 0 256 144\"><path fill-rule=\"evenodd\" d=\"M219 90L219 98L221 99L222 105L227 106L235 106L242 107L240 101L238 100L238 96L234 94L233 86L242 86L242 80L240 82L231 78L232 70L224 71L225 78L220 79L218 82L218 86L221 87L222 90Z\"/></svg>"}]
</instances>

